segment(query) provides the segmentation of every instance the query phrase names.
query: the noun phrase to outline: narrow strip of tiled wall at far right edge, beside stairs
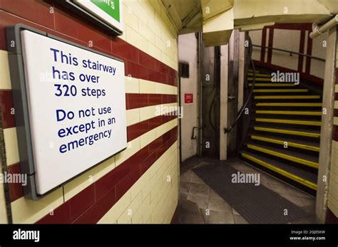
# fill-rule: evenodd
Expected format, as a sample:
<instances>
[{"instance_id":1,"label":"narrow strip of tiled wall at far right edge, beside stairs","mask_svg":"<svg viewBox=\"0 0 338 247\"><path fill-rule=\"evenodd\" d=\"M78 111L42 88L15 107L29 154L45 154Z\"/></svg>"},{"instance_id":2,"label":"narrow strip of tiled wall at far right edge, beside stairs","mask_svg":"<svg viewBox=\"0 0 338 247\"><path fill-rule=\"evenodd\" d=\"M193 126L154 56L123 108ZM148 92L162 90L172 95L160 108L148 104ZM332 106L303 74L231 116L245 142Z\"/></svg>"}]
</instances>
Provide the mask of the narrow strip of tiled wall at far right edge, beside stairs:
<instances>
[{"instance_id":1,"label":"narrow strip of tiled wall at far right edge, beside stairs","mask_svg":"<svg viewBox=\"0 0 338 247\"><path fill-rule=\"evenodd\" d=\"M331 165L329 171L329 196L327 221L338 223L338 39L336 46L336 85L334 88L334 120Z\"/></svg>"}]
</instances>

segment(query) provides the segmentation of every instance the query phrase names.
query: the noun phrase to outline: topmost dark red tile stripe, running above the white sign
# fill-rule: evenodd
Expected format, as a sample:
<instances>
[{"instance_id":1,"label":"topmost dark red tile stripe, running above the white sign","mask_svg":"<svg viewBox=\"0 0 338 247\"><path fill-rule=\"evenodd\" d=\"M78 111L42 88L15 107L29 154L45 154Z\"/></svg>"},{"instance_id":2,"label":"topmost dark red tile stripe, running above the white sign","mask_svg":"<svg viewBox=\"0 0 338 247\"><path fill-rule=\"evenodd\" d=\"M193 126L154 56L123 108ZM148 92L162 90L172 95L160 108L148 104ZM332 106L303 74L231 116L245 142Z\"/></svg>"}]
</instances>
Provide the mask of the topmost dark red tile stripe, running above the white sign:
<instances>
[{"instance_id":1,"label":"topmost dark red tile stripe, running above the white sign","mask_svg":"<svg viewBox=\"0 0 338 247\"><path fill-rule=\"evenodd\" d=\"M54 7L51 14L50 8ZM86 19L53 1L3 1L0 11L0 49L7 50L5 28L16 23L24 23L41 31L46 31L68 41L88 46L93 43L94 50L121 58L125 62L126 75L158 83L177 85L178 73L165 63L140 51L121 38L99 31Z\"/></svg>"}]
</instances>

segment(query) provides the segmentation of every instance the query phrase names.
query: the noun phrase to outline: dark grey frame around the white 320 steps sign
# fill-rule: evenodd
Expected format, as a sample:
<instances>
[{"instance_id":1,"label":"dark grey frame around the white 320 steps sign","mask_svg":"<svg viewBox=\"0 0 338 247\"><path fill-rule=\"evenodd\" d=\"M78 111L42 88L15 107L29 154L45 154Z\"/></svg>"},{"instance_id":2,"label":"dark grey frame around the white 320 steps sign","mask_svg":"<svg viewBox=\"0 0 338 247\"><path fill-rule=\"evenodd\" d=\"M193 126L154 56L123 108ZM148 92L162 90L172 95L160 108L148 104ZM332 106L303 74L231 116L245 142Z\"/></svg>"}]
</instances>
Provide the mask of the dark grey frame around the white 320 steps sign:
<instances>
[{"instance_id":1,"label":"dark grey frame around the white 320 steps sign","mask_svg":"<svg viewBox=\"0 0 338 247\"><path fill-rule=\"evenodd\" d=\"M31 129L29 125L29 105L27 99L27 91L26 91L26 78L25 78L25 70L24 70L24 57L22 53L22 43L21 43L21 31L28 30L42 36L46 36L48 38L53 38L56 41L61 41L63 43L67 43L71 46L75 46L76 48L81 48L86 51L90 51L96 53L101 56L106 56L108 58L112 58L116 61L123 62L123 60L119 58L115 58L113 56L109 56L105 53L101 53L99 51L95 51L86 46L78 45L77 43L73 43L71 41L67 41L63 38L58 38L50 33L46 33L40 31L36 28L32 28L30 26L26 26L24 24L18 23L15 26L9 26L6 28L6 43L9 57L9 68L10 68L10 76L11 76L11 87L12 87L12 96L14 101L14 109L15 109L15 121L16 121L16 134L17 134L17 142L19 147L19 158L20 158L20 168L21 174L26 174L27 176L27 184L23 186L24 196L27 199L31 200L39 200L44 196L50 194L52 191L60 188L64 184L70 182L81 174L87 172L89 169L93 169L98 164L105 162L107 159L110 159L114 155L123 152L126 148L121 149L119 152L112 154L111 156L103 159L98 164L93 164L93 166L84 170L83 172L75 175L71 179L59 184L55 188L47 191L45 194L38 194L36 191L36 178L35 178L35 168L34 168L34 159L33 159L33 147L32 147L32 137L31 137Z\"/></svg>"}]
</instances>

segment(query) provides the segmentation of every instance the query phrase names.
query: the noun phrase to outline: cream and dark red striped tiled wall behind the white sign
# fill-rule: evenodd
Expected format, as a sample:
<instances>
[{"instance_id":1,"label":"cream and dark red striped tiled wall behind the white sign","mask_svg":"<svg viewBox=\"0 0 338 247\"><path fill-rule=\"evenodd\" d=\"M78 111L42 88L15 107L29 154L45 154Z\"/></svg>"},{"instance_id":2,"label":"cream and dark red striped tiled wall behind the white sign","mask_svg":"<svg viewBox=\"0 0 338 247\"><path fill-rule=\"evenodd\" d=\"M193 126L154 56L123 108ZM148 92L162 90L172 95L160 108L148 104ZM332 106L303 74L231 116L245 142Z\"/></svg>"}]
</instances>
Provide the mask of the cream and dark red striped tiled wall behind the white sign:
<instances>
[{"instance_id":1,"label":"cream and dark red striped tiled wall behind the white sign","mask_svg":"<svg viewBox=\"0 0 338 247\"><path fill-rule=\"evenodd\" d=\"M155 109L177 106L177 33L158 0L124 0L123 21L123 36L116 38L52 0L0 1L1 128L8 172L20 172L20 159L4 28L24 23L83 46L93 43L126 67L128 148L39 201L25 199L21 184L9 184L14 223L170 223L178 204L178 120L156 115Z\"/></svg>"}]
</instances>

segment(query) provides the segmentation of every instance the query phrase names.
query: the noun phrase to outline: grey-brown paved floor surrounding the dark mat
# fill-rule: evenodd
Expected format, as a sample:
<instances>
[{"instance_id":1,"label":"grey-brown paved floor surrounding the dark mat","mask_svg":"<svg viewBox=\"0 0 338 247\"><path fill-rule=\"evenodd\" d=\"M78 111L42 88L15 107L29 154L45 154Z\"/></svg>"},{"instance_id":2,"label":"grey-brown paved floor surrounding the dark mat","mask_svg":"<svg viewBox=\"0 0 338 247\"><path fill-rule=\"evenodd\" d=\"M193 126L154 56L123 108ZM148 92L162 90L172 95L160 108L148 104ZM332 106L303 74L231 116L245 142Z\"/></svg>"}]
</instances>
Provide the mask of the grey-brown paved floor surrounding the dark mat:
<instances>
[{"instance_id":1,"label":"grey-brown paved floor surrounding the dark mat","mask_svg":"<svg viewBox=\"0 0 338 247\"><path fill-rule=\"evenodd\" d=\"M248 224L238 212L205 184L193 168L205 164L215 164L216 159L193 157L183 162L180 172L180 223L181 224ZM315 198L280 182L240 159L225 162L242 173L260 173L260 186L277 192L280 196L304 209L309 217L298 219L291 224L315 224Z\"/></svg>"}]
</instances>

